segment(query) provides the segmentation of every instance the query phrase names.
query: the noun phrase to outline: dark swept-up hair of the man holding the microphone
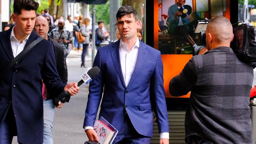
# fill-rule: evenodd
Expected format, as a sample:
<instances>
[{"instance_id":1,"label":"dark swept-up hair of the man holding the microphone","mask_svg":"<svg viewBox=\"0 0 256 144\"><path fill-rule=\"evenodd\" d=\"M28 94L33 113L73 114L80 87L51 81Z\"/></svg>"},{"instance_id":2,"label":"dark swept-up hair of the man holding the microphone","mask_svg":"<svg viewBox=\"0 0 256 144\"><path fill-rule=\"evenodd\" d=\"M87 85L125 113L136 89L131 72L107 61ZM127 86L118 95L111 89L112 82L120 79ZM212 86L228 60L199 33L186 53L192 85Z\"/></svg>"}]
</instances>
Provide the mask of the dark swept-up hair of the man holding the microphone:
<instances>
[{"instance_id":1,"label":"dark swept-up hair of the man holding the microphone","mask_svg":"<svg viewBox=\"0 0 256 144\"><path fill-rule=\"evenodd\" d=\"M14 0L13 2L13 13L20 15L21 10L35 10L35 13L37 11L37 8L39 7L39 4L35 2L35 0Z\"/></svg>"}]
</instances>

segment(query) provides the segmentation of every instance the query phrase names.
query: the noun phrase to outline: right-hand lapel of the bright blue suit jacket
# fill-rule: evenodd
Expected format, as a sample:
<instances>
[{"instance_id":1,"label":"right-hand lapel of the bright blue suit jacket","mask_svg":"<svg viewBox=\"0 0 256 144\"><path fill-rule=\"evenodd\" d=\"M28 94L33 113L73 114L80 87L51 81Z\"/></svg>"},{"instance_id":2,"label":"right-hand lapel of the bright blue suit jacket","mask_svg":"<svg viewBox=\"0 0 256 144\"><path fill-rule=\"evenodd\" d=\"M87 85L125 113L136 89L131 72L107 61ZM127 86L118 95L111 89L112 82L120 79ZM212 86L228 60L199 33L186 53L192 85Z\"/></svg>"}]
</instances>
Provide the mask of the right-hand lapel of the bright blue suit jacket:
<instances>
[{"instance_id":1,"label":"right-hand lapel of the bright blue suit jacket","mask_svg":"<svg viewBox=\"0 0 256 144\"><path fill-rule=\"evenodd\" d=\"M135 65L134 72L132 73L132 77L131 77L130 82L127 85L127 87L129 87L129 85L131 85L131 83L136 78L137 74L140 72L141 66L143 65L143 63L146 59L146 56L148 54L146 49L147 49L146 45L143 42L139 41L139 53L138 53L136 65Z\"/></svg>"}]
</instances>

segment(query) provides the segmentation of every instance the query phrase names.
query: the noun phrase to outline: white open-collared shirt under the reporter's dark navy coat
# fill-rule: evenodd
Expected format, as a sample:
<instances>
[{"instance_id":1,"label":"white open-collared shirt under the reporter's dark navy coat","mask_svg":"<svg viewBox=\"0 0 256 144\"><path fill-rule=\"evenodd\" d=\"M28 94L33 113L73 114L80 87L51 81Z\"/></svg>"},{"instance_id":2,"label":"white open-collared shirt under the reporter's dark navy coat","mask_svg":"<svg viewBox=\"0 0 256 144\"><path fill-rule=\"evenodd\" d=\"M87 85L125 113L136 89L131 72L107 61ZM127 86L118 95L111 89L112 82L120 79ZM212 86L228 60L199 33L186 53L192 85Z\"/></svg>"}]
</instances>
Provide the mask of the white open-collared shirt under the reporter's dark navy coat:
<instances>
[{"instance_id":1,"label":"white open-collared shirt under the reporter's dark navy coat","mask_svg":"<svg viewBox=\"0 0 256 144\"><path fill-rule=\"evenodd\" d=\"M13 50L13 57L16 57L18 54L20 54L20 52L22 52L22 50L24 49L28 38L30 35L28 35L21 43L19 40L16 39L15 35L14 35L14 28L11 30L11 36L10 36L10 40L11 40L11 49Z\"/></svg>"}]
</instances>

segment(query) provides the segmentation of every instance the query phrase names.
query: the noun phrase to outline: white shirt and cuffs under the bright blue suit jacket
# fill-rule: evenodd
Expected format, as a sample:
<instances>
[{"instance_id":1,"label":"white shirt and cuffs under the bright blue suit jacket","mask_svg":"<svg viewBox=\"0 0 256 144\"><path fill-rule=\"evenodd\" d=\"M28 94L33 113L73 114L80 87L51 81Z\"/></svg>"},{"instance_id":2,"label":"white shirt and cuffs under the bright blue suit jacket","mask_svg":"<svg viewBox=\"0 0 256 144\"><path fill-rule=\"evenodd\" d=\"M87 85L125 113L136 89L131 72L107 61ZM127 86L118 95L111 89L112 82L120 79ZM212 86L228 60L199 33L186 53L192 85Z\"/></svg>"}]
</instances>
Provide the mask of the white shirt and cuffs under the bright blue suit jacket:
<instances>
[{"instance_id":1,"label":"white shirt and cuffs under the bright blue suit jacket","mask_svg":"<svg viewBox=\"0 0 256 144\"><path fill-rule=\"evenodd\" d=\"M129 51L127 45L120 39L119 54L122 68L122 75L124 76L124 82L126 87L128 86L132 73L136 65L137 57L139 53L139 38L135 42L132 49ZM91 126L85 126L84 129L93 129ZM160 138L169 139L169 133L160 133Z\"/></svg>"}]
</instances>

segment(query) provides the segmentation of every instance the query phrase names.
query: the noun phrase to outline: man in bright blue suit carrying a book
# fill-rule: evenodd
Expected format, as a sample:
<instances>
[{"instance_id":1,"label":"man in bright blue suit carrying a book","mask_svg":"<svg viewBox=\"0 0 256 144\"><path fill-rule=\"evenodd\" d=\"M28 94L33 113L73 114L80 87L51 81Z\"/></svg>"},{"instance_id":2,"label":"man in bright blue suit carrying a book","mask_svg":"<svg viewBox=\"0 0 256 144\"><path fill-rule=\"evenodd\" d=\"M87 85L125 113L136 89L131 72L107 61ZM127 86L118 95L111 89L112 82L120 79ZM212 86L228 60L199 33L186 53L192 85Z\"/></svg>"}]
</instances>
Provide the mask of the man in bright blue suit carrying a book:
<instances>
[{"instance_id":1,"label":"man in bright blue suit carrying a book","mask_svg":"<svg viewBox=\"0 0 256 144\"><path fill-rule=\"evenodd\" d=\"M86 135L89 141L98 140L93 125L102 98L99 116L119 131L114 144L149 144L153 134L152 110L157 116L160 144L168 144L160 52L139 41L140 21L133 7L120 7L116 17L121 39L99 48L93 63L100 73L89 87L83 123Z\"/></svg>"}]
</instances>

